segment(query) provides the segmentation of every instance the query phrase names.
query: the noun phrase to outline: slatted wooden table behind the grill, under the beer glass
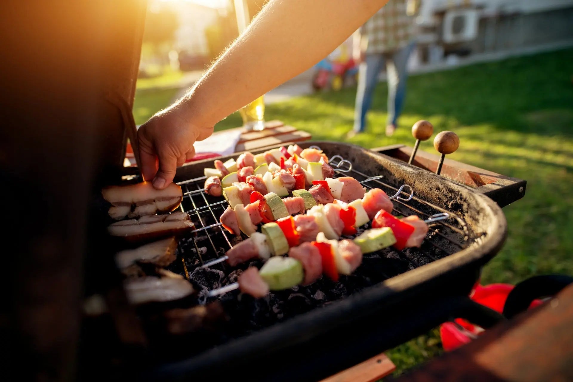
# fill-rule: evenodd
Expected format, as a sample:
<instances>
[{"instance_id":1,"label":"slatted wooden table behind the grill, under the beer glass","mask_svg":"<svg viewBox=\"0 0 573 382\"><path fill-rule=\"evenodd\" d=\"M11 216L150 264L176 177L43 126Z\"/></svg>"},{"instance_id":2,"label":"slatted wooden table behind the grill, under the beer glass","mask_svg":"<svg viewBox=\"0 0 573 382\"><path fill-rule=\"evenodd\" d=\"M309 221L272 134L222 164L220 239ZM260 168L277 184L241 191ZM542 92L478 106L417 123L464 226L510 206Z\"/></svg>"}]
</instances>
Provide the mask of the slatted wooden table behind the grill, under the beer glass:
<instances>
[{"instance_id":1,"label":"slatted wooden table behind the grill, under the beer glass","mask_svg":"<svg viewBox=\"0 0 573 382\"><path fill-rule=\"evenodd\" d=\"M262 131L245 131L235 147L235 152L255 151L258 148L280 145L286 142L303 142L312 138L312 135L305 131L299 131L296 127L285 125L281 121L273 120L265 123L265 129ZM242 127L236 127L231 130L242 130ZM229 131L224 130L224 131ZM220 132L214 132L217 135ZM125 152L125 167L135 166L135 157L131 145L127 146Z\"/></svg>"}]
</instances>

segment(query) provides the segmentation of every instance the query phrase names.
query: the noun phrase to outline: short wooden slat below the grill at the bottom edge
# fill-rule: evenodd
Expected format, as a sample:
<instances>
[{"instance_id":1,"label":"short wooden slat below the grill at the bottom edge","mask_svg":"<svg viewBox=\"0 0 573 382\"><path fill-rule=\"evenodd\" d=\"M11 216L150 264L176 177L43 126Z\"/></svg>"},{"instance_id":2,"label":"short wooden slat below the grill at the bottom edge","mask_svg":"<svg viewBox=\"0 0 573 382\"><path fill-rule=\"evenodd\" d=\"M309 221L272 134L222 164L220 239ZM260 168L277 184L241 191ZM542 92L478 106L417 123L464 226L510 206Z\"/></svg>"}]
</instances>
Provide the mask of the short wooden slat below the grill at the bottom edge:
<instances>
[{"instance_id":1,"label":"short wooden slat below the grill at the bottom edge","mask_svg":"<svg viewBox=\"0 0 573 382\"><path fill-rule=\"evenodd\" d=\"M381 353L321 382L373 382L389 375L395 369L394 363Z\"/></svg>"}]
</instances>

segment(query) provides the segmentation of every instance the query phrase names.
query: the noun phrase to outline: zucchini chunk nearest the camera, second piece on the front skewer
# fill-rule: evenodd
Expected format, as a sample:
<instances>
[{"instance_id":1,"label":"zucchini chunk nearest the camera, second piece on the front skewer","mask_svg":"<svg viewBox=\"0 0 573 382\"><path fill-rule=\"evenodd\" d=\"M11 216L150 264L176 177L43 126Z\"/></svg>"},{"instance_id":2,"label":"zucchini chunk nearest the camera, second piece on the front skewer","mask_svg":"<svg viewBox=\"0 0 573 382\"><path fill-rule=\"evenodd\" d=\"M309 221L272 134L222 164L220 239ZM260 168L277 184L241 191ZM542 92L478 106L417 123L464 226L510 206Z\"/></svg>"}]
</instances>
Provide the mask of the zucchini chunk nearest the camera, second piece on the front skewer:
<instances>
[{"instance_id":1,"label":"zucchini chunk nearest the camera, second piece on the front skewer","mask_svg":"<svg viewBox=\"0 0 573 382\"><path fill-rule=\"evenodd\" d=\"M289 289L303 282L303 264L292 257L273 257L262 266L259 274L270 290Z\"/></svg>"}]
</instances>

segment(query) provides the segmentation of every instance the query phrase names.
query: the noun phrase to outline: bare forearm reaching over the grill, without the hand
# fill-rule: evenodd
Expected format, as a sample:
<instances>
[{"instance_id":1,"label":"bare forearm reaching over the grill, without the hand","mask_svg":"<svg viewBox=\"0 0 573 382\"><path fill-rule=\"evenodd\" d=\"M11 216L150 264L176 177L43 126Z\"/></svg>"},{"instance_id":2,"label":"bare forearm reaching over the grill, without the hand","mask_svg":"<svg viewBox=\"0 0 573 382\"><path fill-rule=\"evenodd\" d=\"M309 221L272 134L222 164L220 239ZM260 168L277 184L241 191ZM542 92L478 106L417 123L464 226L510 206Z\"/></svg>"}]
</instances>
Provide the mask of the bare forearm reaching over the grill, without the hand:
<instances>
[{"instance_id":1,"label":"bare forearm reaching over the grill, without the hand","mask_svg":"<svg viewBox=\"0 0 573 382\"><path fill-rule=\"evenodd\" d=\"M270 0L181 101L210 123L326 57L388 0Z\"/></svg>"}]
</instances>

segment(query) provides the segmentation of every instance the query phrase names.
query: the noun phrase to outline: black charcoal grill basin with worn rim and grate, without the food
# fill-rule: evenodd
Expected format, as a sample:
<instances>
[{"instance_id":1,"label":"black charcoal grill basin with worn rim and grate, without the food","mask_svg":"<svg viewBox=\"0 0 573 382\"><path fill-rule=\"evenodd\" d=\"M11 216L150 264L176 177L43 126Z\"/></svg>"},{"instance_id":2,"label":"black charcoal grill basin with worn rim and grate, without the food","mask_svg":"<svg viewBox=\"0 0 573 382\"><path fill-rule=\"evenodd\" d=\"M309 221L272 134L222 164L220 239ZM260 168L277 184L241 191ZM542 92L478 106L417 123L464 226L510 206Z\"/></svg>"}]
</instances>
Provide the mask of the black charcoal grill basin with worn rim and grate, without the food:
<instances>
[{"instance_id":1,"label":"black charcoal grill basin with worn rim and grate, without the food","mask_svg":"<svg viewBox=\"0 0 573 382\"><path fill-rule=\"evenodd\" d=\"M233 329L218 333L207 348L194 342L178 352L169 351L168 356L155 357L159 360L156 364L140 368L142 378L219 380L237 377L245 370L249 380L316 381L449 318L465 317L484 327L501 319L499 314L465 297L481 267L499 251L507 234L503 212L493 200L462 184L356 145L320 141L301 146L312 144L329 156L338 154L349 160L352 169L348 175L358 180L384 176L366 183L367 187L393 194L401 184L410 184L415 196L410 202L395 201L395 214L429 216L448 212L450 218L430 226L420 249L387 249L367 255L355 275L340 280L342 292L331 293L336 286L328 280L296 291L297 296L302 294L309 300L313 293L323 292L326 297L316 304L320 307L295 309L285 304L278 314L267 312L264 322L253 324L237 317L249 309L256 310L257 301L243 296L239 302L237 292L223 295L223 306L230 307L231 320L237 320L231 322ZM175 178L186 195L180 208L190 212L197 227L214 225L226 208L221 198L193 192L203 187L203 168L211 164L212 160L189 164L179 168ZM221 227L182 238L180 256L170 269L197 281L195 269L202 262L224 255L233 243L234 238ZM240 267L248 266L246 263ZM224 264L213 268L225 276L221 285L235 281L233 268ZM200 293L203 297L199 298L202 302L213 285L204 287ZM271 301L288 300L291 294L274 293ZM241 310L242 306L246 308Z\"/></svg>"}]
</instances>

